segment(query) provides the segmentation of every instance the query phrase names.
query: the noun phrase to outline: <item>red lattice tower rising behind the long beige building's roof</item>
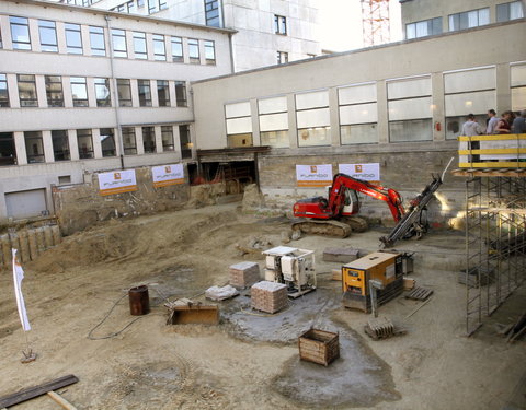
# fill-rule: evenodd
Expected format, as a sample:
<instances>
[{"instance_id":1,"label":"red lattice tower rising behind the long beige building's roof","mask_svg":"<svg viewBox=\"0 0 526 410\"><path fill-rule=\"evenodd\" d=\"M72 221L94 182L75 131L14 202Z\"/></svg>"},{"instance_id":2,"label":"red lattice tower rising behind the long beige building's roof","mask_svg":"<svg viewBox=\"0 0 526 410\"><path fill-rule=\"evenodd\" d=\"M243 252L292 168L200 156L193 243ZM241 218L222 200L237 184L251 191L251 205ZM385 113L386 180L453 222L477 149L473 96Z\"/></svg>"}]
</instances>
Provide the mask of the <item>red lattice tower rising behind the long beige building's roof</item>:
<instances>
[{"instance_id":1,"label":"red lattice tower rising behind the long beige building's roof","mask_svg":"<svg viewBox=\"0 0 526 410\"><path fill-rule=\"evenodd\" d=\"M389 0L361 0L364 47L389 43Z\"/></svg>"}]
</instances>

